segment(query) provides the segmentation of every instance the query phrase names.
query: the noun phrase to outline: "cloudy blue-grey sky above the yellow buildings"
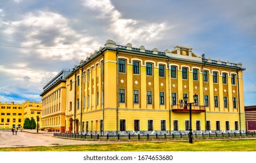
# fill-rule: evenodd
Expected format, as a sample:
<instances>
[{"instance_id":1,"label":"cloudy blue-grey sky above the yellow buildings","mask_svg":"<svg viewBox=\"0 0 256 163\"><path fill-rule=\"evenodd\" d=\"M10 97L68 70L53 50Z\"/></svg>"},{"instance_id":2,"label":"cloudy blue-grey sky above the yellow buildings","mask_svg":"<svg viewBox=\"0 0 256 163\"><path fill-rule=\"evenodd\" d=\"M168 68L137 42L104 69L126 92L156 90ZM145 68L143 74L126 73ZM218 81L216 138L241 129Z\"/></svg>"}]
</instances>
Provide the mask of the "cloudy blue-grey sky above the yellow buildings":
<instances>
[{"instance_id":1,"label":"cloudy blue-grey sky above the yellow buildings","mask_svg":"<svg viewBox=\"0 0 256 163\"><path fill-rule=\"evenodd\" d=\"M256 105L255 0L0 0L0 102L40 101L45 84L110 39L243 63Z\"/></svg>"}]
</instances>

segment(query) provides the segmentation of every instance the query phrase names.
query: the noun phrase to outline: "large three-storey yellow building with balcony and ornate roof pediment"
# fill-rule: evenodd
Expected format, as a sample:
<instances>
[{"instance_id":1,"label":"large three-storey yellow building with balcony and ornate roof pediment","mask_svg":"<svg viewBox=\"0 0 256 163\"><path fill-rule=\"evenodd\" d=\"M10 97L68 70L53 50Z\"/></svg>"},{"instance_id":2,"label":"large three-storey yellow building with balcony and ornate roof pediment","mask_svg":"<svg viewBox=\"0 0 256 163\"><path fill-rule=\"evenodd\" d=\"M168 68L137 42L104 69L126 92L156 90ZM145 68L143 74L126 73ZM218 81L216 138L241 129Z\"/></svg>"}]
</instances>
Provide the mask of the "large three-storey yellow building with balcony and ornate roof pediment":
<instances>
[{"instance_id":1,"label":"large three-storey yellow building with balcony and ornate roof pediment","mask_svg":"<svg viewBox=\"0 0 256 163\"><path fill-rule=\"evenodd\" d=\"M245 132L243 70L183 45L160 52L107 40L65 77L66 132L188 133L184 97L194 94L194 133Z\"/></svg>"}]
</instances>

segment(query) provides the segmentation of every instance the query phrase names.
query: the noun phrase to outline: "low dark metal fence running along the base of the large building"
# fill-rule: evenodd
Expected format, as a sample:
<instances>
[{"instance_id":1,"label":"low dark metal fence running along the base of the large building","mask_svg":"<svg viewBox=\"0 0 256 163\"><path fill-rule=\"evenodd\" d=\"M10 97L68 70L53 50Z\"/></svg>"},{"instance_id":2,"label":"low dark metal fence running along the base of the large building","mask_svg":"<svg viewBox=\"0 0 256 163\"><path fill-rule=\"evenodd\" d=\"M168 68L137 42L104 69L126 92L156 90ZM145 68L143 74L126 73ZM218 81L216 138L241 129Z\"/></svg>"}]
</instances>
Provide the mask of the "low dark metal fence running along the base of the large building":
<instances>
[{"instance_id":1,"label":"low dark metal fence running along the base of the large building","mask_svg":"<svg viewBox=\"0 0 256 163\"><path fill-rule=\"evenodd\" d=\"M225 138L225 137L252 137L255 136L255 132L251 133L194 133L194 138ZM188 139L188 134L146 134L146 135L100 135L100 134L79 134L79 133L54 133L54 136L58 137L71 137L75 139L93 139L93 140L170 140L170 139Z\"/></svg>"}]
</instances>

